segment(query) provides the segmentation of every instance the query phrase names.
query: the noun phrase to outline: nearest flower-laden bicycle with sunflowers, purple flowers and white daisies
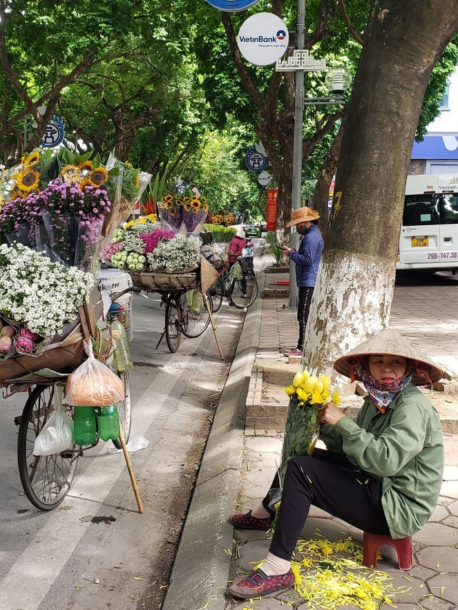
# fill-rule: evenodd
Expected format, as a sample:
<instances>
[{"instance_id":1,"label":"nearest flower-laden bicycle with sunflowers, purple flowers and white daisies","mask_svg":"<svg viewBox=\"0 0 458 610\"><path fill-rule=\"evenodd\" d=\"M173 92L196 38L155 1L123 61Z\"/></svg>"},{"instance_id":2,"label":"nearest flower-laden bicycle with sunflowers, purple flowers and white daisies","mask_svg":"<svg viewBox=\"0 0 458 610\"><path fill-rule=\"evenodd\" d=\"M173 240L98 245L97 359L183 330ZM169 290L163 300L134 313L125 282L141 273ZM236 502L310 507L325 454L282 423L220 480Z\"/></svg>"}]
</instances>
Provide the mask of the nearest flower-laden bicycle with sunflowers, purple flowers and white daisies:
<instances>
[{"instance_id":1,"label":"nearest flower-laden bicycle with sunflowers, purple flowers and white daisies","mask_svg":"<svg viewBox=\"0 0 458 610\"><path fill-rule=\"evenodd\" d=\"M0 177L0 187L8 193L0 207L0 387L4 397L28 392L15 423L21 482L34 506L48 511L62 502L78 457L97 444L99 434L105 439L99 422L105 405L117 403L119 423L109 438L124 451L142 512L125 444L131 424L128 372L115 374L103 364L114 343L109 327L97 327L103 305L94 288L102 242L111 238L118 218L125 220L135 200L123 196L123 170L115 160L108 168L98 155L89 161L91 156L93 151L79 158L67 149L59 151L59 158L51 151L34 151ZM128 192L136 198L140 173L127 168L126 173L135 187L130 184ZM97 409L99 417L92 410L92 443L73 437L75 412L92 403L71 402L66 387L88 361L97 361L118 388L109 394L94 386L94 394L100 390L111 402L99 403L105 408ZM53 428L51 422L61 427ZM62 432L59 448L51 443L43 450L39 439L55 437L55 430Z\"/></svg>"}]
</instances>

